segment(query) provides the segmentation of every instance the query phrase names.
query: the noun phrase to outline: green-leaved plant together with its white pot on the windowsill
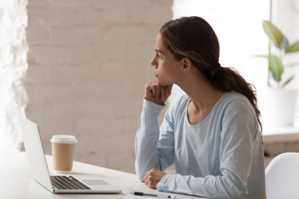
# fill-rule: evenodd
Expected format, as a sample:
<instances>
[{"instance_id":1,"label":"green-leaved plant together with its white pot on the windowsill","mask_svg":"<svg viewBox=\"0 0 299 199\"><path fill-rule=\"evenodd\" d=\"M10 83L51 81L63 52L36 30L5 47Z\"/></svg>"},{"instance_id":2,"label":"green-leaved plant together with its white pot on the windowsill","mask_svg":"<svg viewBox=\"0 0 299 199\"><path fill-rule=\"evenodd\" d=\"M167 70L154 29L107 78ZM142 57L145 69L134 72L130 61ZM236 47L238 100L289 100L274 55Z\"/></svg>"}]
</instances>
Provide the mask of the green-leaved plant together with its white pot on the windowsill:
<instances>
[{"instance_id":1,"label":"green-leaved plant together with its white pot on the windowsill","mask_svg":"<svg viewBox=\"0 0 299 199\"><path fill-rule=\"evenodd\" d=\"M297 90L285 88L294 75L284 79L284 59L288 54L299 52L299 40L289 44L288 39L271 21L263 21L263 29L276 49L268 59L268 88L262 92L261 118L266 126L293 125L296 110ZM291 64L295 66L298 64ZM284 79L284 80L283 80Z\"/></svg>"}]
</instances>

